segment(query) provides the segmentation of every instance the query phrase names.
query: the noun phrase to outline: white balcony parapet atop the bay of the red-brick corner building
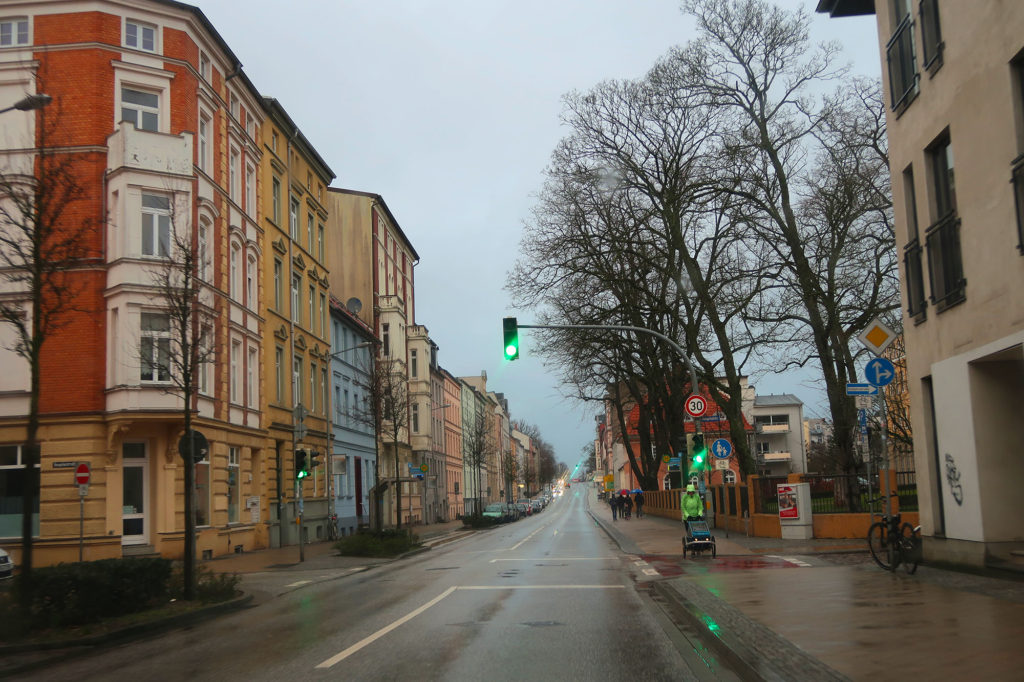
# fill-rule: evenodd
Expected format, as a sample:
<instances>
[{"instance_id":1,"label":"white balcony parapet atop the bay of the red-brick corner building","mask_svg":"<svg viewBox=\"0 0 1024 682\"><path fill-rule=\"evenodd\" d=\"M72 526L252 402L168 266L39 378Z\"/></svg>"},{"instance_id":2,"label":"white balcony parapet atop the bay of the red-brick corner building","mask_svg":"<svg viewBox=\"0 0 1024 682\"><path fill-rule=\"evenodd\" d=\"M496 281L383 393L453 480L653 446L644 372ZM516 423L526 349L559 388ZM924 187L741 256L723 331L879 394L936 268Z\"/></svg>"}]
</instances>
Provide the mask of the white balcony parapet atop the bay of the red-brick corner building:
<instances>
[{"instance_id":1,"label":"white balcony parapet atop the bay of the red-brick corner building","mask_svg":"<svg viewBox=\"0 0 1024 682\"><path fill-rule=\"evenodd\" d=\"M193 135L136 130L135 124L122 121L106 138L106 169L121 168L191 175Z\"/></svg>"}]
</instances>

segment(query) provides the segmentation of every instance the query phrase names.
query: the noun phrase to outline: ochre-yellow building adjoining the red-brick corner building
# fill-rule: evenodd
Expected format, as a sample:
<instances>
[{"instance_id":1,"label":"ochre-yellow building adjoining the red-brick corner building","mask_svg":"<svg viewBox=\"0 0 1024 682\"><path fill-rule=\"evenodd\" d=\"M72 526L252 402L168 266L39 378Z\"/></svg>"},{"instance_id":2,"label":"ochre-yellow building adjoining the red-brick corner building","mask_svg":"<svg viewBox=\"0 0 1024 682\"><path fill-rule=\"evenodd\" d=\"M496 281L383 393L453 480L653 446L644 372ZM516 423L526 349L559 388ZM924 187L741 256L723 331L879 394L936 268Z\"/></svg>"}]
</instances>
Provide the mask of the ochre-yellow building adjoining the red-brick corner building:
<instances>
[{"instance_id":1,"label":"ochre-yellow building adjoining the red-brick corner building","mask_svg":"<svg viewBox=\"0 0 1024 682\"><path fill-rule=\"evenodd\" d=\"M269 439L269 521L273 547L299 541L302 489L306 541L326 537L326 460L330 413L331 310L327 186L334 172L281 102L263 98L262 211L263 413ZM317 453L310 475L296 477L295 452ZM283 522L282 522L283 521Z\"/></svg>"}]
</instances>

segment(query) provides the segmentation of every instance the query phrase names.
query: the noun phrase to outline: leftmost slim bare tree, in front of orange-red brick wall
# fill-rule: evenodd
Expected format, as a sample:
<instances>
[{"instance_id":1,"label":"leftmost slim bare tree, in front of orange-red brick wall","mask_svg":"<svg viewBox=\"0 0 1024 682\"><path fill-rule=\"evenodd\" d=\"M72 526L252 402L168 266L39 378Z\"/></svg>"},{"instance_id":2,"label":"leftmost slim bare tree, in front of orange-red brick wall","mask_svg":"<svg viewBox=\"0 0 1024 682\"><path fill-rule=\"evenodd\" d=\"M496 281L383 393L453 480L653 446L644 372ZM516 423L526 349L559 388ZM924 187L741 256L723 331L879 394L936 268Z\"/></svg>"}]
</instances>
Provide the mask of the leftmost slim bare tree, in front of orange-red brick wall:
<instances>
[{"instance_id":1,"label":"leftmost slim bare tree, in front of orange-red brick wall","mask_svg":"<svg viewBox=\"0 0 1024 682\"><path fill-rule=\"evenodd\" d=\"M44 80L37 78L37 87ZM36 114L36 139L25 157L8 157L14 167L0 173L0 276L8 283L0 296L0 322L13 329L9 350L29 365L29 415L22 463L22 565L24 594L32 592L32 516L39 500L39 403L43 349L68 329L75 312L90 310L81 296L83 268L101 258L99 216L90 215L93 195L83 177L86 168L68 153L53 148L58 139L59 101L48 114ZM81 321L82 316L77 316Z\"/></svg>"}]
</instances>

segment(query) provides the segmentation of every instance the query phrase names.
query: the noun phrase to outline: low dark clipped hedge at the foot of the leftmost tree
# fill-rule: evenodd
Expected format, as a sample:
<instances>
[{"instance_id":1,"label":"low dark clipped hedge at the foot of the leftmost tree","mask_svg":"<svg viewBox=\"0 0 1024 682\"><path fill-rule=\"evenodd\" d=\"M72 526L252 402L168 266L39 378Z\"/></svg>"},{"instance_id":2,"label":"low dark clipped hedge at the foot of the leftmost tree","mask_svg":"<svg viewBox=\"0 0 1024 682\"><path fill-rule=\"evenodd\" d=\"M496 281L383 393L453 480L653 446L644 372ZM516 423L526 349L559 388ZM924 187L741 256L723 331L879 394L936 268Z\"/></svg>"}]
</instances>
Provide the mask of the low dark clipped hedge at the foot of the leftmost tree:
<instances>
[{"instance_id":1,"label":"low dark clipped hedge at the foot of the leftmost tree","mask_svg":"<svg viewBox=\"0 0 1024 682\"><path fill-rule=\"evenodd\" d=\"M33 569L33 594L25 630L97 623L144 610L167 598L171 560L101 559L58 563ZM15 580L11 602L19 603L25 585Z\"/></svg>"}]
</instances>

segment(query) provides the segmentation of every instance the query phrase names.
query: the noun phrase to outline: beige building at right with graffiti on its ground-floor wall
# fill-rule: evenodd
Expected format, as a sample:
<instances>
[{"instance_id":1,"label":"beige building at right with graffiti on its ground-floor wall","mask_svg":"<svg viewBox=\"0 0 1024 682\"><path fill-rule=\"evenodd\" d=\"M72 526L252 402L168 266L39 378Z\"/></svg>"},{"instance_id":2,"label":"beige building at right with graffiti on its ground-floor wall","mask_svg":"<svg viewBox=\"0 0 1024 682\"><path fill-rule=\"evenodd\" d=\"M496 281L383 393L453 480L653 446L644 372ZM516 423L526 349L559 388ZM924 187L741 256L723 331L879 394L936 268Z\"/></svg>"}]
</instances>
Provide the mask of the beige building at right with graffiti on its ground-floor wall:
<instances>
[{"instance_id":1,"label":"beige building at right with graffiti on its ground-floor wall","mask_svg":"<svg viewBox=\"0 0 1024 682\"><path fill-rule=\"evenodd\" d=\"M1024 548L1024 2L820 0L877 15L927 559Z\"/></svg>"}]
</instances>

